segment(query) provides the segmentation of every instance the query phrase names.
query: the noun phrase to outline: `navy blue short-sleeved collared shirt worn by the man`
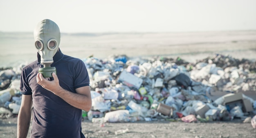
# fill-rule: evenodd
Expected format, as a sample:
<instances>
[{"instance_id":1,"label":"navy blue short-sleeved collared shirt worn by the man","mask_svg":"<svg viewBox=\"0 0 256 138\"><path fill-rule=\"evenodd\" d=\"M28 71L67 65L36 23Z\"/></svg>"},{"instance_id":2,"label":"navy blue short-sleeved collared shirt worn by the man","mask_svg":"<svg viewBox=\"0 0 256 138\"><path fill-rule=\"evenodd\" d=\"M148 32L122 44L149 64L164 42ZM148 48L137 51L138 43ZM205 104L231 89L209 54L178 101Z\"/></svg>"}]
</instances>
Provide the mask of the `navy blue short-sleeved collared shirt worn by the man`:
<instances>
[{"instance_id":1,"label":"navy blue short-sleeved collared shirt worn by the man","mask_svg":"<svg viewBox=\"0 0 256 138\"><path fill-rule=\"evenodd\" d=\"M64 55L60 49L53 59L51 66L56 67L59 84L63 89L76 93L76 88L89 86L88 72L82 60ZM43 65L40 64L38 54L38 60L25 66L20 78L21 94L32 95L33 99L31 137L80 138L82 110L37 84L36 74L41 67Z\"/></svg>"}]
</instances>

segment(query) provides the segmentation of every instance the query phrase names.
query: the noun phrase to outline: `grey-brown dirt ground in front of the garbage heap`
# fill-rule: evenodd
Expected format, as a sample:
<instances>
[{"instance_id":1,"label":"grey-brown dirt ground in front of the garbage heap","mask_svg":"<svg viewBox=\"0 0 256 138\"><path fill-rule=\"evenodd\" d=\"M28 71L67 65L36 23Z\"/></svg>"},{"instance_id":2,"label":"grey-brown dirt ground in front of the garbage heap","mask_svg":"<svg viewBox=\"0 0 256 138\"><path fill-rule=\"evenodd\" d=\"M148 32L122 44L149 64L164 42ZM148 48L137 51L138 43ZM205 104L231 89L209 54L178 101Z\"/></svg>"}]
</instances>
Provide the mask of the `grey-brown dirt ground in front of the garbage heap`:
<instances>
[{"instance_id":1,"label":"grey-brown dirt ground in front of the garbage heap","mask_svg":"<svg viewBox=\"0 0 256 138\"><path fill-rule=\"evenodd\" d=\"M256 129L240 118L229 122L171 122L167 120L105 123L101 127L89 120L82 122L86 138L256 138ZM123 134L115 134L122 130ZM29 129L29 132L31 129ZM16 138L17 118L0 120L0 138ZM27 138L29 138L29 134Z\"/></svg>"}]
</instances>

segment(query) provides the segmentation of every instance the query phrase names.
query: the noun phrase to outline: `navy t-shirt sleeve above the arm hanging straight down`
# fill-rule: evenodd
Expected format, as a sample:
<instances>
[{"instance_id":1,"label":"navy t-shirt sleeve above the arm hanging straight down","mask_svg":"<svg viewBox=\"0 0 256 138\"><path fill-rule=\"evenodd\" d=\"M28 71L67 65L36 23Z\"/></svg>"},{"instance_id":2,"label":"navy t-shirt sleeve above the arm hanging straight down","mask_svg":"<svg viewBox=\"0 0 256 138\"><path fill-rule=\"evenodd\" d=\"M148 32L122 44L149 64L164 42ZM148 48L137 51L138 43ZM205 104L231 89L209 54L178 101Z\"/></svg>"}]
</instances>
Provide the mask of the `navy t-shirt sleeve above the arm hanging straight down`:
<instances>
[{"instance_id":1,"label":"navy t-shirt sleeve above the arm hanging straight down","mask_svg":"<svg viewBox=\"0 0 256 138\"><path fill-rule=\"evenodd\" d=\"M32 90L29 87L29 83L27 82L26 72L23 68L22 73L20 75L20 93L24 95L31 95Z\"/></svg>"}]
</instances>

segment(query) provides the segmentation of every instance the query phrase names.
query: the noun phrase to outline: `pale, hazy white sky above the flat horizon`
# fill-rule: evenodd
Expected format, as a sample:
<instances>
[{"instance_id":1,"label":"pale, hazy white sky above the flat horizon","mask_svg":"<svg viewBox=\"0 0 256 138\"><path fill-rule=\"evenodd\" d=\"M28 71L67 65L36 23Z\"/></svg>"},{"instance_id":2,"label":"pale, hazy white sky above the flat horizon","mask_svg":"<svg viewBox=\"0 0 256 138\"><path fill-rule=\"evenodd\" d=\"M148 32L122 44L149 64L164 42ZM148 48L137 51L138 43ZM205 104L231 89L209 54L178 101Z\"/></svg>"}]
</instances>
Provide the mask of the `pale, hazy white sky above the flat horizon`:
<instances>
[{"instance_id":1,"label":"pale, hazy white sky above the flat horizon","mask_svg":"<svg viewBox=\"0 0 256 138\"><path fill-rule=\"evenodd\" d=\"M256 30L256 0L0 0L0 31L65 33Z\"/></svg>"}]
</instances>

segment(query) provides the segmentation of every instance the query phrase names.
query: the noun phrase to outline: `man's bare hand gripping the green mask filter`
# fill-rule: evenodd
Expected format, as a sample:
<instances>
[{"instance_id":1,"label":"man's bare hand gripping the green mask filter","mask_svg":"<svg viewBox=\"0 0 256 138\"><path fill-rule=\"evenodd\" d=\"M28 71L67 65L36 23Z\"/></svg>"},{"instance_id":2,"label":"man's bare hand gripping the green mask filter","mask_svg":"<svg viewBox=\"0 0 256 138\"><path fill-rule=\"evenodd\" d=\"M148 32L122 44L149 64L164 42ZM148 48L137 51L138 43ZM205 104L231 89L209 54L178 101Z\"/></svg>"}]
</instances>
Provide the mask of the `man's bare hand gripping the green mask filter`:
<instances>
[{"instance_id":1,"label":"man's bare hand gripping the green mask filter","mask_svg":"<svg viewBox=\"0 0 256 138\"><path fill-rule=\"evenodd\" d=\"M54 80L50 81L45 79L41 73L37 73L36 82L48 91L52 91L54 94L58 95L58 92L62 88L59 84L57 75L55 73L52 73L52 77Z\"/></svg>"}]
</instances>

